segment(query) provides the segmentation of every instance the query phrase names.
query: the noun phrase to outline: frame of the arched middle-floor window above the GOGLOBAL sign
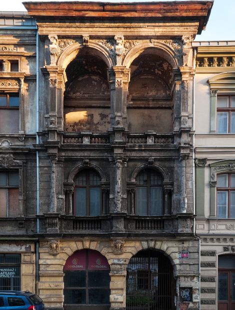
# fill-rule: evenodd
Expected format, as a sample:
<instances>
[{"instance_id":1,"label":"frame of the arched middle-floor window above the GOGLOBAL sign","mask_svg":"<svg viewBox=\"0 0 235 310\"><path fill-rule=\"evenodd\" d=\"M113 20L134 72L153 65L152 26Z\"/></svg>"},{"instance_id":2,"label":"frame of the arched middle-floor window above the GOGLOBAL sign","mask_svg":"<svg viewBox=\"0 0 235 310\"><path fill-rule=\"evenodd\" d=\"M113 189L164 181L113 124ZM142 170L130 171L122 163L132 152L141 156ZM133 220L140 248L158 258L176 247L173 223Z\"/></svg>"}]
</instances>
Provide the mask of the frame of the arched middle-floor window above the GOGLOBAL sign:
<instances>
[{"instance_id":1,"label":"frame of the arched middle-floor window above the GOGLOBAL sign","mask_svg":"<svg viewBox=\"0 0 235 310\"><path fill-rule=\"evenodd\" d=\"M97 176L99 176L100 182L98 185L90 185L89 184L89 173L90 172L95 172ZM85 172L86 176L86 184L85 185L78 185L75 183L75 179L79 176L80 173ZM99 214L98 215L90 215L90 188L92 187L99 187ZM86 203L85 203L85 215L77 215L76 214L76 188L85 188L85 198L86 198ZM102 213L102 194L101 194L101 177L99 173L95 169L82 169L80 170L75 178L74 178L74 192L73 192L73 214L75 216L100 216Z\"/></svg>"}]
</instances>

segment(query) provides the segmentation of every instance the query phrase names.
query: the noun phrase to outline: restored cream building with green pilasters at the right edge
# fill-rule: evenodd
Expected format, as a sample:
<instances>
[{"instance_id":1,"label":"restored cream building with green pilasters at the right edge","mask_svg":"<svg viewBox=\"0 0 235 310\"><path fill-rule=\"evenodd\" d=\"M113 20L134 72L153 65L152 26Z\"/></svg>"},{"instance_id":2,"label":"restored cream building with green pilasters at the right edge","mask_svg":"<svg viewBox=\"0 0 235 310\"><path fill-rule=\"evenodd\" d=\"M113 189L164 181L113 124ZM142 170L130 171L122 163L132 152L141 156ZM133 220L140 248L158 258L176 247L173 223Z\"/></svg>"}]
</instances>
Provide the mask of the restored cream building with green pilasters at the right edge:
<instances>
[{"instance_id":1,"label":"restored cream building with green pilasters at the right edge","mask_svg":"<svg viewBox=\"0 0 235 310\"><path fill-rule=\"evenodd\" d=\"M193 42L201 309L235 308L235 41Z\"/></svg>"}]
</instances>

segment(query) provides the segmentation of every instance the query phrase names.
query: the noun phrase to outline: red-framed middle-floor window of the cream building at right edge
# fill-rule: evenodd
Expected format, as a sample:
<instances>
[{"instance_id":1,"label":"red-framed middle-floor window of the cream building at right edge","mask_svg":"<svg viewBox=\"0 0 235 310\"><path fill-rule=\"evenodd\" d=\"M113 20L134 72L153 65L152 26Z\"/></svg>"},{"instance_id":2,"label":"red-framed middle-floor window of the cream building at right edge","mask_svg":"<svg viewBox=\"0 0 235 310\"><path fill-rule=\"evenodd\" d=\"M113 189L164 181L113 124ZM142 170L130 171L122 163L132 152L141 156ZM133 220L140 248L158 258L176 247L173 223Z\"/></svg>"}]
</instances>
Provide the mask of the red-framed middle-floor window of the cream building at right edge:
<instances>
[{"instance_id":1,"label":"red-framed middle-floor window of the cream building at right edge","mask_svg":"<svg viewBox=\"0 0 235 310\"><path fill-rule=\"evenodd\" d=\"M217 175L217 217L235 218L235 173Z\"/></svg>"}]
</instances>

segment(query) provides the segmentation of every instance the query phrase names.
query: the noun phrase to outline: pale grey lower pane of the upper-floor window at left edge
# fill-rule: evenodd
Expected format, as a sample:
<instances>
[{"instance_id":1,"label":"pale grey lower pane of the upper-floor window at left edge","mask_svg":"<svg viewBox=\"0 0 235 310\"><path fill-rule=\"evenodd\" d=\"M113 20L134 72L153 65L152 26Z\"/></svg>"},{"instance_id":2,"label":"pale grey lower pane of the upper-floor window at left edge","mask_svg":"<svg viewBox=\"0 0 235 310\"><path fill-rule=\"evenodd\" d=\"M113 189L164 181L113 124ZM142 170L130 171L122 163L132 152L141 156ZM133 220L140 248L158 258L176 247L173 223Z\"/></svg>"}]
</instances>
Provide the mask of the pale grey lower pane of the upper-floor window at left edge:
<instances>
[{"instance_id":1,"label":"pale grey lower pane of the upper-floor window at left edge","mask_svg":"<svg viewBox=\"0 0 235 310\"><path fill-rule=\"evenodd\" d=\"M0 133L18 133L19 131L19 110L0 110Z\"/></svg>"}]
</instances>

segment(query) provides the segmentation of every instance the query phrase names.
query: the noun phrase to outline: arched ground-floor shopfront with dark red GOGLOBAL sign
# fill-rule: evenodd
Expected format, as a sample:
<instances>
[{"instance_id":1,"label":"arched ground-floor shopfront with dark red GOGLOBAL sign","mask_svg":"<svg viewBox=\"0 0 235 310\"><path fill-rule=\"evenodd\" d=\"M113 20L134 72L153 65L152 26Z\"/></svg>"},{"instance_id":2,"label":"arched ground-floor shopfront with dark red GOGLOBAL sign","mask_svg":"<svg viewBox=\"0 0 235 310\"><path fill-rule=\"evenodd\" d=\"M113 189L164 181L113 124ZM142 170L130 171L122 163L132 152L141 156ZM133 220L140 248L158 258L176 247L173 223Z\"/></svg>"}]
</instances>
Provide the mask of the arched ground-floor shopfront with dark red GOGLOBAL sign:
<instances>
[{"instance_id":1,"label":"arched ground-floor shopfront with dark red GOGLOBAL sign","mask_svg":"<svg viewBox=\"0 0 235 310\"><path fill-rule=\"evenodd\" d=\"M69 256L64 271L64 309L109 308L109 264L98 251L82 249Z\"/></svg>"}]
</instances>

